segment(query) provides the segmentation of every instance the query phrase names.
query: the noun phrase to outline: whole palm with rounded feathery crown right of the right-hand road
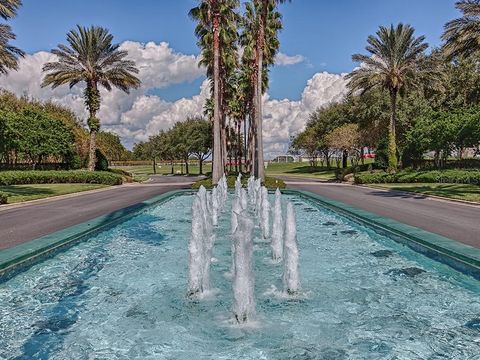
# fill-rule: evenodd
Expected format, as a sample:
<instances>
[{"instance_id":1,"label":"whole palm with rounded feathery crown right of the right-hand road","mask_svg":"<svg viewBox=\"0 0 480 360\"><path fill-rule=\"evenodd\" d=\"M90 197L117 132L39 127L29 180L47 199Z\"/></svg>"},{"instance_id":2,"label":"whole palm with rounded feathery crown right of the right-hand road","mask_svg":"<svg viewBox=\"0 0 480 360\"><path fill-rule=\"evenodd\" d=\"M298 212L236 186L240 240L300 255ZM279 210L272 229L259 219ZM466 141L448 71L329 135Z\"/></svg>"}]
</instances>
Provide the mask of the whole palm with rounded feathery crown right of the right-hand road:
<instances>
[{"instance_id":1,"label":"whole palm with rounded feathery crown right of the right-hand road","mask_svg":"<svg viewBox=\"0 0 480 360\"><path fill-rule=\"evenodd\" d=\"M368 37L366 50L369 55L355 54L353 61L361 66L349 75L351 92L362 93L373 88L383 88L390 95L390 125L388 132L388 169L397 170L396 116L397 99L408 86L416 86L424 70L423 55L428 48L425 37L414 37L415 29L410 25L396 27L380 26L376 36Z\"/></svg>"}]
</instances>

